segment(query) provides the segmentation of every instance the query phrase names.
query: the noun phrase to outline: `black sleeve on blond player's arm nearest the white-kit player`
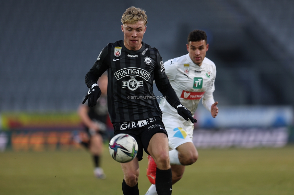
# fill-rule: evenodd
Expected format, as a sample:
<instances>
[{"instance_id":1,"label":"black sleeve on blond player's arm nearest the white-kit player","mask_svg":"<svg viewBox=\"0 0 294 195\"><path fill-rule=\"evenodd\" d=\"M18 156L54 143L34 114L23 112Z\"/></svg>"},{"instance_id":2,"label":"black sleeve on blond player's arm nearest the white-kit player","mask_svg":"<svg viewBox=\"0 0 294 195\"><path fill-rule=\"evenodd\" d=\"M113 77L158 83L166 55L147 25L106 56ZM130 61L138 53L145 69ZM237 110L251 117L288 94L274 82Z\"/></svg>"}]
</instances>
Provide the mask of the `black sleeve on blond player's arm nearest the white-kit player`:
<instances>
[{"instance_id":1,"label":"black sleeve on blond player's arm nearest the white-kit player","mask_svg":"<svg viewBox=\"0 0 294 195\"><path fill-rule=\"evenodd\" d=\"M162 58L161 58L159 52L157 53L157 61L156 62L157 62L157 65L154 70L154 80L155 80L156 87L162 93L162 95L165 97L167 102L172 107L177 109L177 106L179 104L181 104L181 102L180 102L176 92L174 91L174 89L170 85L170 82L165 74L163 61L162 61Z\"/></svg>"}]
</instances>

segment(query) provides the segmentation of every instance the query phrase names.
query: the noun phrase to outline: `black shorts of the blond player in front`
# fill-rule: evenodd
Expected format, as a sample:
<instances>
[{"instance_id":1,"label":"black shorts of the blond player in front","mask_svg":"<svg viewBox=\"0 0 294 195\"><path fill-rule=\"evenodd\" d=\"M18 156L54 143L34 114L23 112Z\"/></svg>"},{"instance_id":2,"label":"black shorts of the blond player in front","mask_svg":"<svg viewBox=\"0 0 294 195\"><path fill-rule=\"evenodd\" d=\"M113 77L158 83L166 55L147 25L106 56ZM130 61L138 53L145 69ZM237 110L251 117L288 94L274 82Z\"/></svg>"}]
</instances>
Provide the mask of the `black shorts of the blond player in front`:
<instances>
[{"instance_id":1,"label":"black shorts of the blond player in front","mask_svg":"<svg viewBox=\"0 0 294 195\"><path fill-rule=\"evenodd\" d=\"M143 159L143 149L147 154L147 148L149 145L149 141L151 140L152 136L156 133L164 133L167 136L167 132L165 131L164 125L162 121L154 121L151 122L143 127L127 129L127 130L120 130L119 127L120 123L114 123L114 135L117 134L129 134L133 136L137 143L138 143L138 153L137 158L139 161Z\"/></svg>"}]
</instances>

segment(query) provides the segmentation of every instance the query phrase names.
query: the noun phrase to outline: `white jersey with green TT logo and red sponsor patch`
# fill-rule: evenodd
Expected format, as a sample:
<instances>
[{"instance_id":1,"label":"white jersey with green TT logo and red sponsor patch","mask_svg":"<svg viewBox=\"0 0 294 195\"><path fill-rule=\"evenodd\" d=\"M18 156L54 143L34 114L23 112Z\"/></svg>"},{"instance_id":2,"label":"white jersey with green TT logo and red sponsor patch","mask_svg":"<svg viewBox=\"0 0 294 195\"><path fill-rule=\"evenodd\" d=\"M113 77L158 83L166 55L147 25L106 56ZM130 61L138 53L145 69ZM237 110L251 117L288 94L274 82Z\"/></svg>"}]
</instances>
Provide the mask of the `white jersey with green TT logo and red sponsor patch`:
<instances>
[{"instance_id":1,"label":"white jersey with green TT logo and red sponsor patch","mask_svg":"<svg viewBox=\"0 0 294 195\"><path fill-rule=\"evenodd\" d=\"M201 66L198 66L194 64L188 53L164 62L164 68L180 102L193 115L202 96L205 93L212 94L214 91L215 64L205 57ZM171 107L165 99L161 100L159 106L164 114L178 116L177 110Z\"/></svg>"}]
</instances>

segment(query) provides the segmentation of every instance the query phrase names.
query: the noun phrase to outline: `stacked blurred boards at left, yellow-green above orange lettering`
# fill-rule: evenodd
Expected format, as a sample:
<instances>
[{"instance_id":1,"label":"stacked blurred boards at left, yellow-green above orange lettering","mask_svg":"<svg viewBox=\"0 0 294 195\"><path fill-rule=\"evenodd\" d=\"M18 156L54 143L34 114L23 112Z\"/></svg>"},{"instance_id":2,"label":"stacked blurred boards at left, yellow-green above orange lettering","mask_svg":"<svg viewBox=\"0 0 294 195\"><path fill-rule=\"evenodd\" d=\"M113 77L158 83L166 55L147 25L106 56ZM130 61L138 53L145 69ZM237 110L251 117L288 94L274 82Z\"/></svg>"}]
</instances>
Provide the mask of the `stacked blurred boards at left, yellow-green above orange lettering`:
<instances>
[{"instance_id":1,"label":"stacked blurred boards at left, yellow-green above orange lettering","mask_svg":"<svg viewBox=\"0 0 294 195\"><path fill-rule=\"evenodd\" d=\"M83 128L75 112L2 113L0 121L0 151L7 146L17 152L81 148L73 140Z\"/></svg>"}]
</instances>

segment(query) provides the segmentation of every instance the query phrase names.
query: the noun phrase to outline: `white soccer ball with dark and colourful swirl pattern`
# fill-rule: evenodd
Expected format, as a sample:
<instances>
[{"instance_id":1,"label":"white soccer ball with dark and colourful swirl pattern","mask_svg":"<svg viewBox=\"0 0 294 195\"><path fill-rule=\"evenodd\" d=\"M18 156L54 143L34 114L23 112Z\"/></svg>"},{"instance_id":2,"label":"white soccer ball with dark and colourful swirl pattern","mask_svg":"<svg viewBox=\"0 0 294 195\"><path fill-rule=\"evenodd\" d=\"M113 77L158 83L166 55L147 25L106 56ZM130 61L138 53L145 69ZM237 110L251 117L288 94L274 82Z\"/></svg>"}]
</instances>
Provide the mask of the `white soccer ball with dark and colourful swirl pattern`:
<instances>
[{"instance_id":1,"label":"white soccer ball with dark and colourful swirl pattern","mask_svg":"<svg viewBox=\"0 0 294 195\"><path fill-rule=\"evenodd\" d=\"M110 140L108 149L114 160L127 163L137 156L138 143L129 134L117 134Z\"/></svg>"}]
</instances>

